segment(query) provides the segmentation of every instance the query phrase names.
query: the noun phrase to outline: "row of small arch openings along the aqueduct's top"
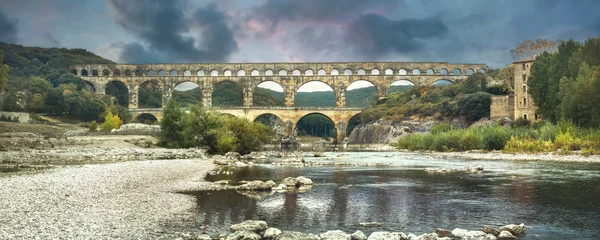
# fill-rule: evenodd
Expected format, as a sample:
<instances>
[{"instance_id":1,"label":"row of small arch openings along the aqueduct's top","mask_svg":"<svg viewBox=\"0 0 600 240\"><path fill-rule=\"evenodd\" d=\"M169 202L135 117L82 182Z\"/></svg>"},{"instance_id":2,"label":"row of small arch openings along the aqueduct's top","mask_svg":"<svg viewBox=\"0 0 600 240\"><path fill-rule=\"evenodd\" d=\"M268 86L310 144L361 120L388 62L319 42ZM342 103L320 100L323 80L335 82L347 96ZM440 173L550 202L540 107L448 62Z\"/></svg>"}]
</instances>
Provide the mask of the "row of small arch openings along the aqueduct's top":
<instances>
[{"instance_id":1,"label":"row of small arch openings along the aqueduct's top","mask_svg":"<svg viewBox=\"0 0 600 240\"><path fill-rule=\"evenodd\" d=\"M481 68L478 70L478 72L480 73L486 73L486 70ZM77 70L73 69L72 73L77 75ZM89 73L86 69L82 69L81 70L81 76L100 76L100 73L98 72L97 69L92 69L92 72ZM407 70L407 69L400 69L398 72L398 75L422 75L421 74L421 70L418 68L412 69L412 70ZM466 75L472 75L473 73L475 73L475 70L469 68L466 70ZM101 72L102 76L110 76L110 71L108 69L104 69ZM135 76L141 77L141 76L178 76L178 72L177 70L172 70L170 72L167 72L165 70L159 70L158 72L155 72L154 70L149 70L146 73L144 73L144 71L142 71L141 69L136 70L135 72L132 73L131 70L125 70L124 75L125 76L133 76L132 74L135 74ZM394 71L392 69L386 69L383 71L384 75L395 75ZM452 71L452 75L462 75L463 72L460 68L455 68ZM288 76L288 72L286 70L279 70L279 72L277 72L278 76ZM291 72L292 76L302 76L302 73L300 72L300 70L294 70ZM324 69L319 69L316 74L312 69L308 69L306 71L304 71L304 76L325 76L327 75L327 71L325 71ZM338 71L337 69L333 69L331 70L331 72L329 72L329 75L354 75L354 73L352 72L352 70L350 69L346 69L343 72ZM356 71L356 75L367 75L367 71L364 69L358 69ZM369 75L381 75L379 69L372 69L370 71ZM432 68L429 68L425 71L425 75L436 75L435 71ZM448 70L445 68L442 68L439 71L439 75L449 75L448 74ZM121 71L116 69L113 71L113 76L121 76ZM192 72L190 70L185 70L183 72L183 76L192 76ZM196 76L211 76L211 77L216 77L216 76L221 76L221 74L219 73L219 71L217 70L212 70L210 72L208 71L204 71L204 70L198 70L196 72ZM231 70L225 70L223 72L222 76L233 76L233 72ZM236 73L236 76L246 76L246 71L244 70L239 70ZM250 72L249 76L261 76L260 72L258 70L252 70ZM264 72L264 74L262 76L275 76L275 72L273 72L273 70L267 70Z\"/></svg>"}]
</instances>

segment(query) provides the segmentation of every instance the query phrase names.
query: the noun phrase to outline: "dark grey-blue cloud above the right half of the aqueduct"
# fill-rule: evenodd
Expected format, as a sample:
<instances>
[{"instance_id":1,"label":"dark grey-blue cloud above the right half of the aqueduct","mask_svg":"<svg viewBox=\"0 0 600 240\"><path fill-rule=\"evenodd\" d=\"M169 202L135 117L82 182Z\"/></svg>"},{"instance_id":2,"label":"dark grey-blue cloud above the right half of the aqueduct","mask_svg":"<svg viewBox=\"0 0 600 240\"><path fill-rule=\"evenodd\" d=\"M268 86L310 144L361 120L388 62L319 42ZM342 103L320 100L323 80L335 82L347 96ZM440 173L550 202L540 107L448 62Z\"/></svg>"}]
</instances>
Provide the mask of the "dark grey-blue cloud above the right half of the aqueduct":
<instances>
[{"instance_id":1,"label":"dark grey-blue cloud above the right half of the aqueduct","mask_svg":"<svg viewBox=\"0 0 600 240\"><path fill-rule=\"evenodd\" d=\"M367 56L390 51L410 53L422 50L420 40L442 36L448 27L439 19L389 20L376 14L361 15L348 25L346 41Z\"/></svg>"}]
</instances>

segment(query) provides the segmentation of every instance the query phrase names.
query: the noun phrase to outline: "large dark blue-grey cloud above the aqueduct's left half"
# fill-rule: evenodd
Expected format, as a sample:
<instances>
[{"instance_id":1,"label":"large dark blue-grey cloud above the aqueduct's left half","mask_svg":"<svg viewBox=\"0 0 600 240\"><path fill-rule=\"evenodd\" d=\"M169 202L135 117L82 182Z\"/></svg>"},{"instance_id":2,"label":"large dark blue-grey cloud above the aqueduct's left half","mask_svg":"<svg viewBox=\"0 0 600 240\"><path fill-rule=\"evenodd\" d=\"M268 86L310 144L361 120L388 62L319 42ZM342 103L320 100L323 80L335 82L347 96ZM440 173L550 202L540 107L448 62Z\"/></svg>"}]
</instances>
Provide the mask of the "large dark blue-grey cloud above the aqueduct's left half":
<instances>
[{"instance_id":1,"label":"large dark blue-grey cloud above the aqueduct's left half","mask_svg":"<svg viewBox=\"0 0 600 240\"><path fill-rule=\"evenodd\" d=\"M196 9L189 18L185 1L110 0L109 6L123 29L148 44L148 49L124 45L121 60L148 62L149 56L157 56L151 52L157 51L165 58L153 61L221 62L237 50L226 15L213 3Z\"/></svg>"}]
</instances>

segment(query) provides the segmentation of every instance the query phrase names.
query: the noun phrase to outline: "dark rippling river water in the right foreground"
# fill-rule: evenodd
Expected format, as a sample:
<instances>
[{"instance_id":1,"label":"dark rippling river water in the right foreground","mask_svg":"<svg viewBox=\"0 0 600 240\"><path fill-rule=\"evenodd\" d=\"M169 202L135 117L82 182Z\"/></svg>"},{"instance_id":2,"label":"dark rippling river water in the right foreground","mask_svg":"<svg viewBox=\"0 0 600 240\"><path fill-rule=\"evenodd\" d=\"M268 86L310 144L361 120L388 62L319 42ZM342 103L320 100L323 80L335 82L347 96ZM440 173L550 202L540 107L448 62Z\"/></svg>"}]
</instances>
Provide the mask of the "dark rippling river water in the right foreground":
<instances>
[{"instance_id":1,"label":"dark rippling river water in the right foreground","mask_svg":"<svg viewBox=\"0 0 600 240\"><path fill-rule=\"evenodd\" d=\"M435 228L480 230L525 223L521 239L600 239L600 164L432 159L398 152L326 153L315 162L379 163L359 167L293 167L271 164L239 168L208 180L275 180L306 176L306 192L253 199L235 191L194 192L197 224L212 234L260 219L288 231L422 234ZM481 173L427 173L425 168ZM361 222L381 222L361 227Z\"/></svg>"}]
</instances>

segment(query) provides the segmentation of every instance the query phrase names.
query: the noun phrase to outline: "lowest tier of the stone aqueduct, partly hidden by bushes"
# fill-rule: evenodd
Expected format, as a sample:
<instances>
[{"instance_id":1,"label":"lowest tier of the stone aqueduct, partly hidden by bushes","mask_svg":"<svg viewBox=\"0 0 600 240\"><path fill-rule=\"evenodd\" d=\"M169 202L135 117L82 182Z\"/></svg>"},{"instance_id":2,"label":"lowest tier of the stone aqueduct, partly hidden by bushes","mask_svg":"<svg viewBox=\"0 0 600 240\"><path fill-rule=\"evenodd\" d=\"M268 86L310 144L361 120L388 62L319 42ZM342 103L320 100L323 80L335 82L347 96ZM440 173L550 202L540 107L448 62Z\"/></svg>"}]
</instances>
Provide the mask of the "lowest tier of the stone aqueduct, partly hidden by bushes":
<instances>
[{"instance_id":1,"label":"lowest tier of the stone aqueduct, partly hidden by bushes","mask_svg":"<svg viewBox=\"0 0 600 240\"><path fill-rule=\"evenodd\" d=\"M341 142L346 137L346 127L350 119L359 114L362 108L348 107L226 107L211 108L220 113L255 121L262 115L272 114L279 118L284 125L284 135L290 136L296 129L298 121L309 114L321 114L328 117L335 126L337 140ZM162 119L162 108L131 108L129 111L135 119L143 114L150 114L157 120Z\"/></svg>"}]
</instances>

